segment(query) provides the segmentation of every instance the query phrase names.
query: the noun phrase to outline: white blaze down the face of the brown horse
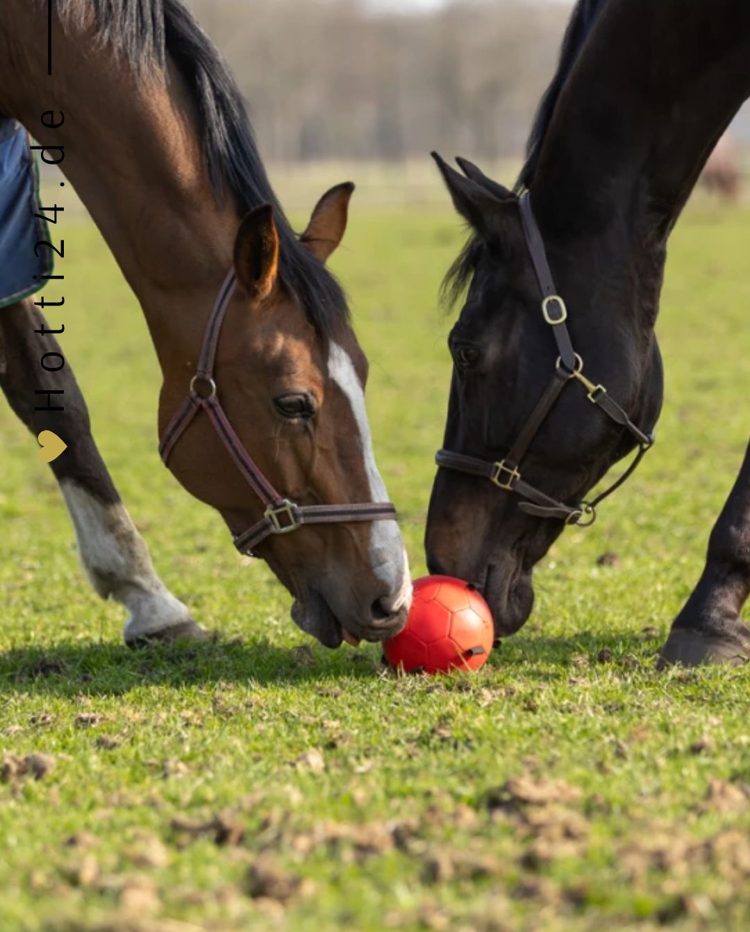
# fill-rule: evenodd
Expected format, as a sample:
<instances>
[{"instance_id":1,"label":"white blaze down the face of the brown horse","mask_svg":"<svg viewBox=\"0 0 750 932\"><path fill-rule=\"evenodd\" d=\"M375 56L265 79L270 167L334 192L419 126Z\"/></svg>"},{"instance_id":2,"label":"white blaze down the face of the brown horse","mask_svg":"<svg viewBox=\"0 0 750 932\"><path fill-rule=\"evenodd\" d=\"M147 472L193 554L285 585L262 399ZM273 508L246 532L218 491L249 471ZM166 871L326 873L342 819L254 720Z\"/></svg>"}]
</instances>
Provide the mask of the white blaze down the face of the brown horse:
<instances>
[{"instance_id":1,"label":"white blaze down the face of the brown horse","mask_svg":"<svg viewBox=\"0 0 750 932\"><path fill-rule=\"evenodd\" d=\"M364 468L370 484L373 501L389 501L385 483L375 464L373 438L364 405L364 391L351 357L336 343L331 343L328 357L328 374L344 392L357 422ZM401 531L395 521L373 521L370 531L370 559L378 579L388 583L393 593L391 610L397 611L411 595L409 563L403 546Z\"/></svg>"}]
</instances>

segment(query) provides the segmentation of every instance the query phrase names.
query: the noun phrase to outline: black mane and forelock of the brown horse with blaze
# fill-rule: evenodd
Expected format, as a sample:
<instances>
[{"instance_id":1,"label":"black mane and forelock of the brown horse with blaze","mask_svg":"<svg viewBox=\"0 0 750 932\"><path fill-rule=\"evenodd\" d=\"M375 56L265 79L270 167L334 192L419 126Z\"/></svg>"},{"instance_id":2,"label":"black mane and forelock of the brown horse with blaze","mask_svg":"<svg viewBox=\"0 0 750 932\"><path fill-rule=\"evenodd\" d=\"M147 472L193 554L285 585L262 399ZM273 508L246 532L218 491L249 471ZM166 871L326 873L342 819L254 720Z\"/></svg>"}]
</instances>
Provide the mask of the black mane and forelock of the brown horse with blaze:
<instances>
[{"instance_id":1,"label":"black mane and forelock of the brown horse with blaze","mask_svg":"<svg viewBox=\"0 0 750 932\"><path fill-rule=\"evenodd\" d=\"M198 106L203 154L217 200L228 187L239 212L273 204L280 236L280 277L323 335L346 320L340 285L308 252L271 188L239 88L219 52L181 0L57 0L61 21L82 29L93 10L100 42L136 75L179 68Z\"/></svg>"}]
</instances>

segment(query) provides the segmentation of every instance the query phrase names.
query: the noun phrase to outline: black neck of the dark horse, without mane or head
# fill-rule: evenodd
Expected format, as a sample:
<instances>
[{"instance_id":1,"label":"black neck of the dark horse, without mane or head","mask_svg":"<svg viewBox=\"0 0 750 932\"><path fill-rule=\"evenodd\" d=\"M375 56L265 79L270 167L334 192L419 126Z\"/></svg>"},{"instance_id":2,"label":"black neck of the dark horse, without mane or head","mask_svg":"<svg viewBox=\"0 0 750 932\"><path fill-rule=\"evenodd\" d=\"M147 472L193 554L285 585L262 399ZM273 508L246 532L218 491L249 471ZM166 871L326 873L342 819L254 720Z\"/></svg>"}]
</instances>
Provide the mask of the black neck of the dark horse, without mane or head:
<instances>
[{"instance_id":1,"label":"black neck of the dark horse, without mane or head","mask_svg":"<svg viewBox=\"0 0 750 932\"><path fill-rule=\"evenodd\" d=\"M553 239L653 249L750 94L750 5L610 0L561 93L532 187Z\"/></svg>"}]
</instances>

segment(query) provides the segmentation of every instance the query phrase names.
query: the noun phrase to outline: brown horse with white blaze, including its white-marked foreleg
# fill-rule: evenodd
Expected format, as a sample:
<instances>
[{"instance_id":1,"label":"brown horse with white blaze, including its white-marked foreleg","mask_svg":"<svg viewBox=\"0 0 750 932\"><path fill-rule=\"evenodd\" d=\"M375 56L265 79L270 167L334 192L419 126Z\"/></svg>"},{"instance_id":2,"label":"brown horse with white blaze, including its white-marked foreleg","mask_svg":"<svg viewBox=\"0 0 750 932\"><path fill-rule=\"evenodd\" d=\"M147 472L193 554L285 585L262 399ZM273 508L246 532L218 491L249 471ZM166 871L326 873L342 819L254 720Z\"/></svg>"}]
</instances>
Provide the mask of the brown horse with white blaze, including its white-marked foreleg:
<instances>
[{"instance_id":1,"label":"brown horse with white blaze, including its white-marked foreleg","mask_svg":"<svg viewBox=\"0 0 750 932\"><path fill-rule=\"evenodd\" d=\"M143 308L171 473L266 559L307 633L331 648L394 634L408 565L373 456L367 362L324 266L353 185L323 195L297 238L237 85L179 0L57 0L52 12L50 78L47 4L0 7L0 116L44 153L64 147L61 168ZM34 434L68 445L52 469L89 579L129 610L129 644L203 637L152 567L70 367L39 370L39 334L59 351L44 307L0 311L0 384ZM65 392L64 417L34 410L39 388Z\"/></svg>"}]
</instances>

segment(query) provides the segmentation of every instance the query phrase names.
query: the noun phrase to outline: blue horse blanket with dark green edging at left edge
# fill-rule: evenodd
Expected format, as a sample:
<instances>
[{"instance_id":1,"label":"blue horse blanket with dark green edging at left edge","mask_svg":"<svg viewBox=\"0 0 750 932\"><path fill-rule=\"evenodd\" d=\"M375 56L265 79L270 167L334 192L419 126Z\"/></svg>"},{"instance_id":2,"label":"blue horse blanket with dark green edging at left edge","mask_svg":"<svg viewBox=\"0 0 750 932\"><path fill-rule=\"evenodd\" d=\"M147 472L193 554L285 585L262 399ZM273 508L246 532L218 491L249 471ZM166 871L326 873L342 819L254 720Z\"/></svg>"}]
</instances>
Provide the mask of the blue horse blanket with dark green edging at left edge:
<instances>
[{"instance_id":1,"label":"blue horse blanket with dark green edging at left edge","mask_svg":"<svg viewBox=\"0 0 750 932\"><path fill-rule=\"evenodd\" d=\"M0 308L34 295L52 271L51 250L34 246L48 239L39 212L39 176L29 135L16 120L0 117Z\"/></svg>"}]
</instances>

